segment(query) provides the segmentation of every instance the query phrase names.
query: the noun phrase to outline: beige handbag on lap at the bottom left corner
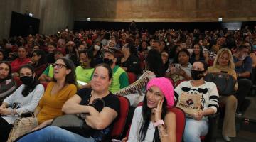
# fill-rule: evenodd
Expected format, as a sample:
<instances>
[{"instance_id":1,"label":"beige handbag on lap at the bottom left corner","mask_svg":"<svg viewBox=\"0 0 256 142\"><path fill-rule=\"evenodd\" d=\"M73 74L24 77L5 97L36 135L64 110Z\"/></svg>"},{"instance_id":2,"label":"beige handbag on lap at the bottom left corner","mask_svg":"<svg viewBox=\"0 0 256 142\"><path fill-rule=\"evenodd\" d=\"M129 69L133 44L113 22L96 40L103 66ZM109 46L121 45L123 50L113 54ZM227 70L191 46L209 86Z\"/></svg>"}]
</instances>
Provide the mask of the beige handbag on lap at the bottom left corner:
<instances>
[{"instance_id":1,"label":"beige handbag on lap at the bottom left corner","mask_svg":"<svg viewBox=\"0 0 256 142\"><path fill-rule=\"evenodd\" d=\"M14 121L14 127L9 133L7 142L15 141L16 138L31 132L36 126L38 126L38 121L31 112L26 111L19 114L18 119Z\"/></svg>"}]
</instances>

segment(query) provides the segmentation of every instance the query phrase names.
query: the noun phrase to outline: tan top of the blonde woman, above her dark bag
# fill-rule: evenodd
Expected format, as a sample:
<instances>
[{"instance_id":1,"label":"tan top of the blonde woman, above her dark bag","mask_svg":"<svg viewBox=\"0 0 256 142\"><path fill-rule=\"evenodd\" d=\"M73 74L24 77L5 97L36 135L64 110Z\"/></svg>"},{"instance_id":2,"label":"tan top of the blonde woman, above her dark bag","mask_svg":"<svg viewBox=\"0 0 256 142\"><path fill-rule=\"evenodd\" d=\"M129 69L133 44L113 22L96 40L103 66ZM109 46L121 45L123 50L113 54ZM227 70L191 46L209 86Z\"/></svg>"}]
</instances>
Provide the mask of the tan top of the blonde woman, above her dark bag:
<instances>
[{"instance_id":1,"label":"tan top of the blonde woman, above her dark bag","mask_svg":"<svg viewBox=\"0 0 256 142\"><path fill-rule=\"evenodd\" d=\"M237 76L236 76L236 73L235 73L235 70L230 70L227 67L221 67L220 65L217 65L216 67L208 67L208 70L207 72L221 72L221 71L224 71L224 72L227 72L229 75L232 75L235 80L237 80ZM238 82L235 83L235 90L238 90Z\"/></svg>"}]
</instances>

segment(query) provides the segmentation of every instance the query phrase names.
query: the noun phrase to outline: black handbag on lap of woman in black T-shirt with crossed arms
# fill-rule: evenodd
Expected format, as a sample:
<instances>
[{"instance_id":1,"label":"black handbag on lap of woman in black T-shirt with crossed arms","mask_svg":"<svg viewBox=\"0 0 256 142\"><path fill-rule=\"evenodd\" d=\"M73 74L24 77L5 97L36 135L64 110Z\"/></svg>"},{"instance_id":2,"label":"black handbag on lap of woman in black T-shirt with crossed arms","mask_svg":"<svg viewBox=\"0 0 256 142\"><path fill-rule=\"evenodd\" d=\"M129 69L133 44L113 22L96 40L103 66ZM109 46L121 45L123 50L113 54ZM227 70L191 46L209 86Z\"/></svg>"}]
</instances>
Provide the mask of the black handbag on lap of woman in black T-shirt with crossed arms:
<instances>
[{"instance_id":1,"label":"black handbag on lap of woman in black T-shirt with crossed arms","mask_svg":"<svg viewBox=\"0 0 256 142\"><path fill-rule=\"evenodd\" d=\"M105 107L105 102L103 99L95 99L91 105L100 112ZM53 119L51 125L88 137L93 130L85 122L86 115L88 114L65 114Z\"/></svg>"}]
</instances>

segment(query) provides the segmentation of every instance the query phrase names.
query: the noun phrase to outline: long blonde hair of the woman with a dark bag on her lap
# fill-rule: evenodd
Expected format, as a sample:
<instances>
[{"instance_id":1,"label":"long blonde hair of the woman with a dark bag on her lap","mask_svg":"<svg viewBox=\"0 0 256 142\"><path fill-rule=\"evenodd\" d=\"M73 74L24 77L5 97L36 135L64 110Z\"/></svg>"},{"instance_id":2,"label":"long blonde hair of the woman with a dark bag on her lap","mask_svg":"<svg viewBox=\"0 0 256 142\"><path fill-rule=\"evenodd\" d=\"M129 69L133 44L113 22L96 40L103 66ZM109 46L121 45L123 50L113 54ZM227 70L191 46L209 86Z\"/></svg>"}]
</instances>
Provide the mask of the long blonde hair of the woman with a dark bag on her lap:
<instances>
[{"instance_id":1,"label":"long blonde hair of the woman with a dark bag on her lap","mask_svg":"<svg viewBox=\"0 0 256 142\"><path fill-rule=\"evenodd\" d=\"M214 60L214 62L213 62L213 67L218 68L218 67L217 67L217 65L218 65L218 60L219 60L220 56L222 56L222 55L225 54L225 53L228 54L228 56L229 56L228 68L229 68L230 70L235 70L235 63L234 63L234 61L233 61L232 53L231 53L231 51L230 51L228 48L222 48L222 49L220 49L220 50L218 51L218 54L216 55L216 58L215 58L215 60Z\"/></svg>"}]
</instances>

